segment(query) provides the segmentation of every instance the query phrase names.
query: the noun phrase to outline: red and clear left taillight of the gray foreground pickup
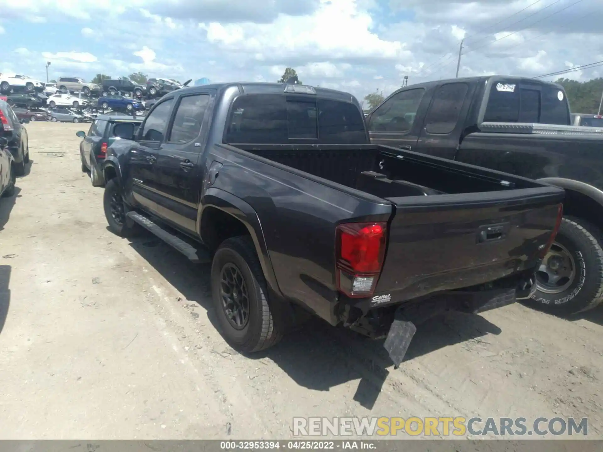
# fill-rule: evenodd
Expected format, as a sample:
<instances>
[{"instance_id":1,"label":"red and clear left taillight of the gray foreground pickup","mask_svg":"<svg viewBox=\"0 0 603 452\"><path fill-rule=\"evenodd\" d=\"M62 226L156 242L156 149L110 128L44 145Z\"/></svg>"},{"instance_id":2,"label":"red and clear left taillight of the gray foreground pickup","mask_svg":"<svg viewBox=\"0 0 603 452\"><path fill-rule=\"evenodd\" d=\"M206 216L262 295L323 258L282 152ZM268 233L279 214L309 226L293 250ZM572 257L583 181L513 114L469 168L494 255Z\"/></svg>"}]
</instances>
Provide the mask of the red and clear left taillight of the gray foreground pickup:
<instances>
[{"instance_id":1,"label":"red and clear left taillight of the gray foreground pickup","mask_svg":"<svg viewBox=\"0 0 603 452\"><path fill-rule=\"evenodd\" d=\"M349 297L370 297L385 255L385 223L347 223L335 231L337 288Z\"/></svg>"}]
</instances>

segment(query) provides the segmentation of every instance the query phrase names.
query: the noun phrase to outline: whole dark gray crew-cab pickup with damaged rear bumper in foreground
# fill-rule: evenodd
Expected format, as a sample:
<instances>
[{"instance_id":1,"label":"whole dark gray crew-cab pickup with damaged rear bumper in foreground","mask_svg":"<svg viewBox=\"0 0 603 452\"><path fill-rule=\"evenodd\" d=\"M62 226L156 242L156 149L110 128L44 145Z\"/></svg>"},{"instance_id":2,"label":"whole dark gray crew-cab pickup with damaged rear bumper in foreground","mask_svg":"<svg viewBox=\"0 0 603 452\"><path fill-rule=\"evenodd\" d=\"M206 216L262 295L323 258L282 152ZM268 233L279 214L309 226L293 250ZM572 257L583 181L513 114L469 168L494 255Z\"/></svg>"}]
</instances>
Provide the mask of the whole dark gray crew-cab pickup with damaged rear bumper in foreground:
<instances>
[{"instance_id":1,"label":"whole dark gray crew-cab pickup with damaged rear bumper in foreground","mask_svg":"<svg viewBox=\"0 0 603 452\"><path fill-rule=\"evenodd\" d=\"M333 90L179 89L132 138L107 149L110 229L211 262L219 326L247 352L309 312L387 336L399 365L429 316L529 298L561 223L563 190L371 145L358 101Z\"/></svg>"}]
</instances>

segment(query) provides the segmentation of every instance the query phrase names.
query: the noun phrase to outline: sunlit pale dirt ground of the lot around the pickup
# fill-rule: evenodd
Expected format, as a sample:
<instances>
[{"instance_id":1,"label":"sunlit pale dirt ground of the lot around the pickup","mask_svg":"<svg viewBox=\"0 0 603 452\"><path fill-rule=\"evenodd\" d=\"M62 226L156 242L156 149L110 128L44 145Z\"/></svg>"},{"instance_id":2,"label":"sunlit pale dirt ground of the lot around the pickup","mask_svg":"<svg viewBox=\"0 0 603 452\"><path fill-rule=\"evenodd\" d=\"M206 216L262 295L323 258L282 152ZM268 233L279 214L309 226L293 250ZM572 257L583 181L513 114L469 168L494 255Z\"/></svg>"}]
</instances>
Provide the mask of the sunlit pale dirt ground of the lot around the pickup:
<instances>
[{"instance_id":1,"label":"sunlit pale dirt ground of the lot around the pickup","mask_svg":"<svg viewBox=\"0 0 603 452\"><path fill-rule=\"evenodd\" d=\"M27 125L28 174L0 200L0 439L291 438L294 416L586 416L603 438L601 307L440 316L397 370L320 321L236 353L207 266L107 230L80 171L87 127Z\"/></svg>"}]
</instances>

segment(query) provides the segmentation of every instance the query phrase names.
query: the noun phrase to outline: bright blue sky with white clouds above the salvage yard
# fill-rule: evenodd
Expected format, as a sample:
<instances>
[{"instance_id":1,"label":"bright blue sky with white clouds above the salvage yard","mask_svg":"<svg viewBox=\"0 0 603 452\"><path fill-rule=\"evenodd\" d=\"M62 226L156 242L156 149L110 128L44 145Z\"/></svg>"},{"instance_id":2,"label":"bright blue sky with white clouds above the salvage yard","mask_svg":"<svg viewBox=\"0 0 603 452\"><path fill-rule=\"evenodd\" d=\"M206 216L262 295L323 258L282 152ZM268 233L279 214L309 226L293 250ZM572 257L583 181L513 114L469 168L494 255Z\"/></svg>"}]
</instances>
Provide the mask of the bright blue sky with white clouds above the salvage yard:
<instances>
[{"instance_id":1,"label":"bright blue sky with white clouds above the salvage yard","mask_svg":"<svg viewBox=\"0 0 603 452\"><path fill-rule=\"evenodd\" d=\"M603 60L601 0L0 0L0 71L46 80L142 71L390 93L455 76L526 77ZM564 77L602 77L603 66ZM545 80L552 80L548 77Z\"/></svg>"}]
</instances>

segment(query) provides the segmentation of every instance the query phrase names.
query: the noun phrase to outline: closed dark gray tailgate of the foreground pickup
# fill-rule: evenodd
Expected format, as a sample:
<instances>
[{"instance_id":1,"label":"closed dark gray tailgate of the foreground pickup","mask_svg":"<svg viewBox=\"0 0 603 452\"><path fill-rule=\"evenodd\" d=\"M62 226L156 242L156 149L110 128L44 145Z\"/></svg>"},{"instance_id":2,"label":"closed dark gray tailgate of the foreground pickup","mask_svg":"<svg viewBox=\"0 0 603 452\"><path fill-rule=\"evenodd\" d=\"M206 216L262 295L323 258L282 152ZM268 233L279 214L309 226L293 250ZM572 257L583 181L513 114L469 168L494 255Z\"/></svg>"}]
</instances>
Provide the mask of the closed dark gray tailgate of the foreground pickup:
<instances>
[{"instance_id":1,"label":"closed dark gray tailgate of the foreground pickup","mask_svg":"<svg viewBox=\"0 0 603 452\"><path fill-rule=\"evenodd\" d=\"M388 198L396 211L374 294L403 301L533 268L563 198L563 190L544 185Z\"/></svg>"}]
</instances>

